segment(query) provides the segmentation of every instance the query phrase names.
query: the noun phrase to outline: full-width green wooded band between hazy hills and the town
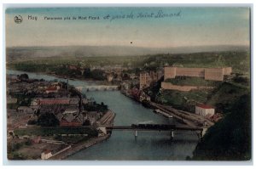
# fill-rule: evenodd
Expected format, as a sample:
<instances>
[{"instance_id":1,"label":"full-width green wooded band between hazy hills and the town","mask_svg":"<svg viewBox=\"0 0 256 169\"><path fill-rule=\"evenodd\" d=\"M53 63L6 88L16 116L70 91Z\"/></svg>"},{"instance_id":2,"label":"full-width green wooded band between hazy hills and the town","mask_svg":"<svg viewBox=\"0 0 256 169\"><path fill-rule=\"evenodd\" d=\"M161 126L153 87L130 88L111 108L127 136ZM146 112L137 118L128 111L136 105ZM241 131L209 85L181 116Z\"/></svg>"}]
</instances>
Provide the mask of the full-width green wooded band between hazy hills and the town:
<instances>
[{"instance_id":1,"label":"full-width green wooded band between hazy hills and the town","mask_svg":"<svg viewBox=\"0 0 256 169\"><path fill-rule=\"evenodd\" d=\"M250 54L240 52L211 52L194 54L155 54L138 56L99 56L99 57L67 57L22 58L9 60L7 68L33 72L48 72L61 69L63 65L80 67L121 65L131 69L155 70L165 65L183 67L222 67L231 66L233 72L249 76ZM63 69L62 69L63 70Z\"/></svg>"}]
</instances>

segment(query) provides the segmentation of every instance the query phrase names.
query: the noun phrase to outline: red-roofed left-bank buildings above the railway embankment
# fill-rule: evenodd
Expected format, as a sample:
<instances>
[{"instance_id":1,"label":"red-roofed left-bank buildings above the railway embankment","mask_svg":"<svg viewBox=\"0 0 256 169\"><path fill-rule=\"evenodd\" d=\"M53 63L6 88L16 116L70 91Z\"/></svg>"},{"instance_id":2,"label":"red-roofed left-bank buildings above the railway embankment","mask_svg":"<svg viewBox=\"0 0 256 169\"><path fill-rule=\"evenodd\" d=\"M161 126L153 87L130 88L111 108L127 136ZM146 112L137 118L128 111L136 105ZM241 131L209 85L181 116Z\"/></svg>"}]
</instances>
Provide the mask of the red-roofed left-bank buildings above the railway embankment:
<instances>
[{"instance_id":1,"label":"red-roofed left-bank buildings above the railway embankment","mask_svg":"<svg viewBox=\"0 0 256 169\"><path fill-rule=\"evenodd\" d=\"M7 78L7 104L9 121L15 121L20 115L26 116L25 121L37 120L37 115L53 114L61 127L83 126L84 121L97 121L100 113L90 113L84 110L88 100L82 95L69 90L63 82L47 82L27 79L17 79L17 76ZM23 104L20 104L23 103ZM19 115L15 115L19 114ZM37 115L36 115L37 114ZM20 124L21 125L21 124ZM24 123L22 124L24 127ZM14 129L17 125L9 125Z\"/></svg>"}]
</instances>

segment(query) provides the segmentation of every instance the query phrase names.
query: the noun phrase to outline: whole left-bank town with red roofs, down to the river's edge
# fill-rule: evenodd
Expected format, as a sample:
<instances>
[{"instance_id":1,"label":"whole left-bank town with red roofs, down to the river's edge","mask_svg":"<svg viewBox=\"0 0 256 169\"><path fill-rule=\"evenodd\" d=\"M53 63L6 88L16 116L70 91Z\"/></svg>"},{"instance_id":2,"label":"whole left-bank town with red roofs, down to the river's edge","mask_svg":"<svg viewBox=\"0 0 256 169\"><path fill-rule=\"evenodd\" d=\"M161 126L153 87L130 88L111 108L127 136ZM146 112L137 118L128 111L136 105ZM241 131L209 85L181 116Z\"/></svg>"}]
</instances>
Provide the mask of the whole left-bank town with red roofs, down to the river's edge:
<instances>
[{"instance_id":1,"label":"whole left-bank town with red roofs, down to the river's edge","mask_svg":"<svg viewBox=\"0 0 256 169\"><path fill-rule=\"evenodd\" d=\"M100 126L112 126L115 114L86 99L68 80L21 74L7 76L7 84L9 159L61 159L109 137Z\"/></svg>"}]
</instances>

